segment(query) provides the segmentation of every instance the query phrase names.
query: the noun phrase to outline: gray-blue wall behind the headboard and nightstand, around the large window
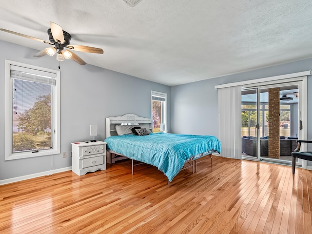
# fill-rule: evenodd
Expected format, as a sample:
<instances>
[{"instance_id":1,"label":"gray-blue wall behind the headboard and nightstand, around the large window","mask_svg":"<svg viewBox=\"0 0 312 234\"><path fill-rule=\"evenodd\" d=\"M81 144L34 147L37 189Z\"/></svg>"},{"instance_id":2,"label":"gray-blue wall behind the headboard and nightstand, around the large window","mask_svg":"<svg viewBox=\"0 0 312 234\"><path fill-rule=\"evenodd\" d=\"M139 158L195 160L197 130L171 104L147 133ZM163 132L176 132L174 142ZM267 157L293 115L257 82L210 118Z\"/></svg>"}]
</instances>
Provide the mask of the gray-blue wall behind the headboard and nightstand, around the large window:
<instances>
[{"instance_id":1,"label":"gray-blue wall behind the headboard and nightstand, around the large window","mask_svg":"<svg viewBox=\"0 0 312 234\"><path fill-rule=\"evenodd\" d=\"M55 57L33 57L38 51L0 40L0 180L49 171L51 156L4 161L4 60L58 70ZM81 56L82 57L82 56ZM134 113L151 117L151 90L167 93L171 108L171 89L92 65L80 66L73 60L60 63L60 152L53 156L54 169L72 165L71 143L90 140L90 124L98 125L96 139L105 139L105 117ZM168 128L170 129L170 111Z\"/></svg>"}]
</instances>

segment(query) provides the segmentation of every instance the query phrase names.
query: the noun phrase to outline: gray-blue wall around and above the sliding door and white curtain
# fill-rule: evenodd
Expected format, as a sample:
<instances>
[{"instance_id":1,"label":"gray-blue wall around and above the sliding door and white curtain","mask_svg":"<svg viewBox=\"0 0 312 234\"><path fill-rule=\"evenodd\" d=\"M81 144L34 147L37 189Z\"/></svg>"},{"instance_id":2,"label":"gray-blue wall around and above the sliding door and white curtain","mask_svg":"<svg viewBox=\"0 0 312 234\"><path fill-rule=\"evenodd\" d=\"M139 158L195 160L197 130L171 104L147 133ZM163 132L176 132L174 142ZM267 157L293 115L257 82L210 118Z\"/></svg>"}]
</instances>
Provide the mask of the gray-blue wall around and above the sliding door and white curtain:
<instances>
[{"instance_id":1,"label":"gray-blue wall around and above the sliding door and white curtain","mask_svg":"<svg viewBox=\"0 0 312 234\"><path fill-rule=\"evenodd\" d=\"M225 77L206 79L171 88L171 131L177 134L218 136L215 85L312 70L312 59L262 68ZM312 138L312 76L308 76L308 139ZM309 147L310 149L312 146ZM308 149L309 149L308 148ZM312 162L308 162L312 165Z\"/></svg>"}]
</instances>

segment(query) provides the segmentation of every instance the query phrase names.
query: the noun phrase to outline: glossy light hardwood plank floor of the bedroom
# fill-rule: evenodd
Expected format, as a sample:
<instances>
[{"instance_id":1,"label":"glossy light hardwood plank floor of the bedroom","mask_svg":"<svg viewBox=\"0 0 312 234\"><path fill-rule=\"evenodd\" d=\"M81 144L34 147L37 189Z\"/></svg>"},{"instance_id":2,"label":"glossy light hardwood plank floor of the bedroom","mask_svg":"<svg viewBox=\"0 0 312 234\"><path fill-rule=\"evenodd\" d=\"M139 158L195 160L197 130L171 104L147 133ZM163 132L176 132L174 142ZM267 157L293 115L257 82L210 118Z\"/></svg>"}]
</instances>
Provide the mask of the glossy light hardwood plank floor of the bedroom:
<instances>
[{"instance_id":1,"label":"glossy light hardwood plank floor of the bedroom","mask_svg":"<svg viewBox=\"0 0 312 234\"><path fill-rule=\"evenodd\" d=\"M166 178L126 160L2 185L0 233L312 233L312 171L213 156Z\"/></svg>"}]
</instances>

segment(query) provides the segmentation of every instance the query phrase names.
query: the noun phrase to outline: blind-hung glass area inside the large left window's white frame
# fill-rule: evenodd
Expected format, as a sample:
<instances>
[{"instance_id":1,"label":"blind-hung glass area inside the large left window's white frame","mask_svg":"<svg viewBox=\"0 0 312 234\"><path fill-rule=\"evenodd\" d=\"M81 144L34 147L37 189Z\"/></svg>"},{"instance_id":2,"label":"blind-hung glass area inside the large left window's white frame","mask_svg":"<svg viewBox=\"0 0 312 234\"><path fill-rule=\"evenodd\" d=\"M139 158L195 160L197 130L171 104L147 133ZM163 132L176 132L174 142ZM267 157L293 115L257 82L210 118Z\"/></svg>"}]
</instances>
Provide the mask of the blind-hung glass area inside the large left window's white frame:
<instances>
[{"instance_id":1,"label":"blind-hung glass area inside the large left window's white frame","mask_svg":"<svg viewBox=\"0 0 312 234\"><path fill-rule=\"evenodd\" d=\"M11 153L53 149L53 89L56 74L11 65ZM35 136L44 138L38 140Z\"/></svg>"}]
</instances>

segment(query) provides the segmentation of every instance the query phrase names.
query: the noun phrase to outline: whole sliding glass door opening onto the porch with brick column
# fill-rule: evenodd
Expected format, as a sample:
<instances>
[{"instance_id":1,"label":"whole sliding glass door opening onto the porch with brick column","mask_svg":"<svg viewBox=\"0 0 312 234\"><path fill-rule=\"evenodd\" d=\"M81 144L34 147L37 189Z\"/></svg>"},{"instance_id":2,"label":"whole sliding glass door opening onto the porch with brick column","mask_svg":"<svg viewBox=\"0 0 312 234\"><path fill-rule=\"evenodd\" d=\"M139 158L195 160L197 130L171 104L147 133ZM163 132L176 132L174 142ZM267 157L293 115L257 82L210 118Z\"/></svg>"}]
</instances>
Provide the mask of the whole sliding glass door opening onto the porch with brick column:
<instances>
[{"instance_id":1,"label":"whole sliding glass door opening onto the porch with brick column","mask_svg":"<svg viewBox=\"0 0 312 234\"><path fill-rule=\"evenodd\" d=\"M242 88L243 158L291 164L302 137L301 85L297 81Z\"/></svg>"}]
</instances>

